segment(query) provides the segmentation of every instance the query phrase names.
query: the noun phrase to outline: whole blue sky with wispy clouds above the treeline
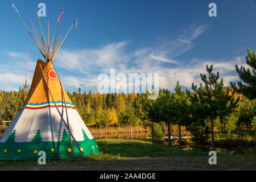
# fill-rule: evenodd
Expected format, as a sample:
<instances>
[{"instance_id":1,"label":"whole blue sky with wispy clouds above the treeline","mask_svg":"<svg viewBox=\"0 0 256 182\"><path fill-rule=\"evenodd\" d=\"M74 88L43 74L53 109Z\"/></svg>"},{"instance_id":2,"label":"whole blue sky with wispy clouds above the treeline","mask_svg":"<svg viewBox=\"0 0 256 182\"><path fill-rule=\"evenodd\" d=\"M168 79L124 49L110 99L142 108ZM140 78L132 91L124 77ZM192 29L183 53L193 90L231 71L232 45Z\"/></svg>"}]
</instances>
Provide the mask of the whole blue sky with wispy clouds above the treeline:
<instances>
[{"instance_id":1,"label":"whole blue sky with wispy clouds above the treeline","mask_svg":"<svg viewBox=\"0 0 256 182\"><path fill-rule=\"evenodd\" d=\"M176 82L190 88L199 84L205 65L220 71L225 85L237 81L234 65L245 65L247 48L256 49L256 1L31 1L0 2L0 90L17 90L24 83L27 51L28 82L38 58L43 59L28 35L15 4L28 27L31 16L37 30L38 4L46 4L40 18L46 33L56 34L64 9L63 36L78 18L54 62L65 90L97 91L100 73L159 73L160 88L173 90ZM217 5L217 17L208 5Z\"/></svg>"}]
</instances>

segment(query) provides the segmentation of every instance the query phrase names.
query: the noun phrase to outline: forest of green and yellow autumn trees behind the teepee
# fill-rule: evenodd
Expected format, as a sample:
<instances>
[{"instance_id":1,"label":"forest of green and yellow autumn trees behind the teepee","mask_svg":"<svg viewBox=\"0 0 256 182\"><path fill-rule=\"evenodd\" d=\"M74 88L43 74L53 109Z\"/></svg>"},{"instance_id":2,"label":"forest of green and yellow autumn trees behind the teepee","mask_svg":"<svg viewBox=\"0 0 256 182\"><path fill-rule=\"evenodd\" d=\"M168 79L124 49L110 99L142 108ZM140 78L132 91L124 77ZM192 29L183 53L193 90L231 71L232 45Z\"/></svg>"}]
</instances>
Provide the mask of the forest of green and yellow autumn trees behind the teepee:
<instances>
[{"instance_id":1,"label":"forest of green and yellow autumn trees behind the teepee","mask_svg":"<svg viewBox=\"0 0 256 182\"><path fill-rule=\"evenodd\" d=\"M201 73L201 84L192 83L191 89L181 90L179 82L175 92L160 89L157 100L148 100L154 94L152 90L143 93L89 93L67 92L75 105L82 120L89 127L149 127L152 142L158 142L168 131L169 146L171 142L171 126L181 128L192 134L192 140L201 150L211 141L214 150L214 131L238 135L248 135L254 132L256 125L255 103L255 53L248 49L246 63L253 68L238 68L237 73L246 82L237 82L238 86L230 82L224 86L219 73L213 73L213 65L208 67L207 73ZM26 92L24 92L26 88ZM0 92L0 121L12 121L27 96L29 86L23 85L18 92ZM181 141L179 139L179 148Z\"/></svg>"}]
</instances>

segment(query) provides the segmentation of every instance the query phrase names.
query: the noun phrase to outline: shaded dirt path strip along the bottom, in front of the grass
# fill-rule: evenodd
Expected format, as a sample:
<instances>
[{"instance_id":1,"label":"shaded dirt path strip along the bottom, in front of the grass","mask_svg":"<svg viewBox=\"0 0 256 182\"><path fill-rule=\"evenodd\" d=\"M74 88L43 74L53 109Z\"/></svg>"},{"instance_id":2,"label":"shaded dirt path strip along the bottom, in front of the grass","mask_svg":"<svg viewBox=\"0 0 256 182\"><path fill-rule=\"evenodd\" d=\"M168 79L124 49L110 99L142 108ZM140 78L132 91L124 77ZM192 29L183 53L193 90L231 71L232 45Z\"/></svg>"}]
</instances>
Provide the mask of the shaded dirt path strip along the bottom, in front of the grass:
<instances>
[{"instance_id":1,"label":"shaded dirt path strip along the bottom, in front of the grass","mask_svg":"<svg viewBox=\"0 0 256 182\"><path fill-rule=\"evenodd\" d=\"M255 156L218 156L217 165L209 165L207 156L172 158L122 158L85 162L47 161L47 165L13 162L0 170L255 170Z\"/></svg>"}]
</instances>

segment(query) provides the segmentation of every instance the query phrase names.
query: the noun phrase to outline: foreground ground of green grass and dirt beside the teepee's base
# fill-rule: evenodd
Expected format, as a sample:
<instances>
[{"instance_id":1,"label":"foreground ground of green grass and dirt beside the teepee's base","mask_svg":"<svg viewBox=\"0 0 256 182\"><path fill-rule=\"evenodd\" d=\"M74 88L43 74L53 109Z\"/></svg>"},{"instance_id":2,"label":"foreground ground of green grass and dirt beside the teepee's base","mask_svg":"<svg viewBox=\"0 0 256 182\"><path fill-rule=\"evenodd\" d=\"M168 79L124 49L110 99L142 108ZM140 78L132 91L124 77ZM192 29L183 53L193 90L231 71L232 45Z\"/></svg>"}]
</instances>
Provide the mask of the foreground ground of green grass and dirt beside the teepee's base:
<instances>
[{"instance_id":1,"label":"foreground ground of green grass and dirt beside the teepee's base","mask_svg":"<svg viewBox=\"0 0 256 182\"><path fill-rule=\"evenodd\" d=\"M217 165L209 165L208 152L179 151L166 143L146 139L98 139L99 155L81 158L36 161L1 161L0 170L255 170L255 155L217 155Z\"/></svg>"}]
</instances>

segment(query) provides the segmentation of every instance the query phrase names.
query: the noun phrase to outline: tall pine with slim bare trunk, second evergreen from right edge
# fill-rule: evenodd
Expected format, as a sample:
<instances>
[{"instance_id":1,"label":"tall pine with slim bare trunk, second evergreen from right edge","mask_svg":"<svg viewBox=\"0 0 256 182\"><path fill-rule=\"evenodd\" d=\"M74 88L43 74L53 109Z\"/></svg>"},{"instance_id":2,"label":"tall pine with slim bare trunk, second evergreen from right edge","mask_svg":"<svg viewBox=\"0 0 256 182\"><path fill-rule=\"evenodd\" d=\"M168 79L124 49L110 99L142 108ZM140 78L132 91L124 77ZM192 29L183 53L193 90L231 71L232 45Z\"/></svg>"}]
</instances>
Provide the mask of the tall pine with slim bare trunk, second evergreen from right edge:
<instances>
[{"instance_id":1,"label":"tall pine with slim bare trunk, second evergreen from right edge","mask_svg":"<svg viewBox=\"0 0 256 182\"><path fill-rule=\"evenodd\" d=\"M232 113L239 98L234 100L234 92L229 88L224 89L223 80L221 79L221 81L218 82L219 73L217 72L215 75L212 73L212 70L213 65L210 67L207 65L208 76L202 73L200 74L204 86L200 84L200 87L197 88L197 86L192 83L192 89L196 92L193 96L197 97L193 101L201 102L201 104L204 105L204 109L207 110L208 119L211 123L212 150L214 150L214 119ZM198 112L200 112L200 110Z\"/></svg>"}]
</instances>

